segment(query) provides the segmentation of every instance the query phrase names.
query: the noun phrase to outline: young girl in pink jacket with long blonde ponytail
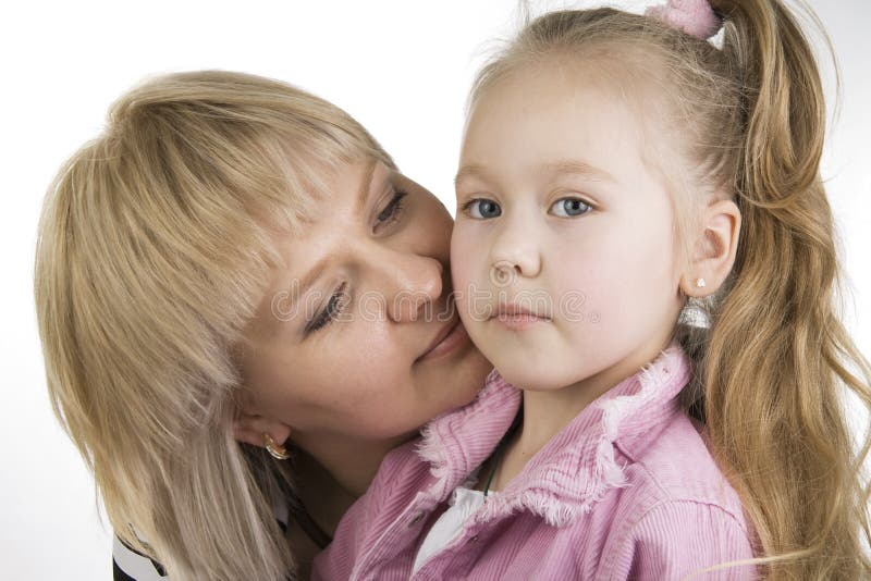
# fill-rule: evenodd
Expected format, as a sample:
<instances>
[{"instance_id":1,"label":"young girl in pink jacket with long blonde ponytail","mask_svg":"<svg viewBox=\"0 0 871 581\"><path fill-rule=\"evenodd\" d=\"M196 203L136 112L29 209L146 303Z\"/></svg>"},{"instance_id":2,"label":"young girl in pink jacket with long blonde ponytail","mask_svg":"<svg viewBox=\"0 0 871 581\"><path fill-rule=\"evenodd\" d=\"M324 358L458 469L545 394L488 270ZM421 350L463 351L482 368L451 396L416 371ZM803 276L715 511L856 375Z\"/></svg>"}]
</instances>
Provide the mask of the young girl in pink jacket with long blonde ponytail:
<instances>
[{"instance_id":1,"label":"young girl in pink jacket with long blonde ponytail","mask_svg":"<svg viewBox=\"0 0 871 581\"><path fill-rule=\"evenodd\" d=\"M777 1L529 24L456 180L456 304L496 371L388 456L316 577L871 574L821 95Z\"/></svg>"}]
</instances>

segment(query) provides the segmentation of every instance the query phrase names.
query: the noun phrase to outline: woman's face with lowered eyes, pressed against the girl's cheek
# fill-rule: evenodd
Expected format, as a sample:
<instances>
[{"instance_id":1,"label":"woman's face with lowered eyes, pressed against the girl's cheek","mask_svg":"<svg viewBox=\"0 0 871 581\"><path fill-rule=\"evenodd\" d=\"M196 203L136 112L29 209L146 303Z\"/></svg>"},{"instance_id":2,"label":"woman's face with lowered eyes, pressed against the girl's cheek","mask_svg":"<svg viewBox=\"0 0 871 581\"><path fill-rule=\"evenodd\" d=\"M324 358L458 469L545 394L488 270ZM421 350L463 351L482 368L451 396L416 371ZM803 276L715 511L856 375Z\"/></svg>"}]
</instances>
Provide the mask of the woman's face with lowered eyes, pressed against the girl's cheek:
<instances>
[{"instance_id":1,"label":"woman's face with lowered eyes, pressed against the girl's cheek","mask_svg":"<svg viewBox=\"0 0 871 581\"><path fill-rule=\"evenodd\" d=\"M395 437L470 401L491 369L454 308L453 222L381 162L348 164L328 185L304 233L279 238L285 267L243 359L250 411L297 442Z\"/></svg>"}]
</instances>

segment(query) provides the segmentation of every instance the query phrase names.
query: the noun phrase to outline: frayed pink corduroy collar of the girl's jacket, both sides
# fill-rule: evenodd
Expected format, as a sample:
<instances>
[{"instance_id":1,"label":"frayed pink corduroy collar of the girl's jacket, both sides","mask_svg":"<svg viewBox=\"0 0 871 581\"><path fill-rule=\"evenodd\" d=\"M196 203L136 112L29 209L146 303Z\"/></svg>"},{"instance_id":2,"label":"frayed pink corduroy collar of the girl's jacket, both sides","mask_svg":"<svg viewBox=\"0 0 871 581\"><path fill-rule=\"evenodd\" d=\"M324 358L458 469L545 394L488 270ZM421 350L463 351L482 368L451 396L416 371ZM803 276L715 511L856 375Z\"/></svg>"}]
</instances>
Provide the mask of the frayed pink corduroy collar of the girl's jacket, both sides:
<instances>
[{"instance_id":1,"label":"frayed pink corduroy collar of the girl's jacket, both sides","mask_svg":"<svg viewBox=\"0 0 871 581\"><path fill-rule=\"evenodd\" d=\"M615 446L635 456L652 440L652 429L678 411L677 395L689 380L691 361L672 343L638 373L585 408L478 514L491 520L522 509L550 524L565 526L612 487L626 484ZM430 493L444 500L487 459L520 405L520 391L493 370L468 406L444 413L424 430L418 454L436 482ZM645 437L639 437L645 436Z\"/></svg>"}]
</instances>

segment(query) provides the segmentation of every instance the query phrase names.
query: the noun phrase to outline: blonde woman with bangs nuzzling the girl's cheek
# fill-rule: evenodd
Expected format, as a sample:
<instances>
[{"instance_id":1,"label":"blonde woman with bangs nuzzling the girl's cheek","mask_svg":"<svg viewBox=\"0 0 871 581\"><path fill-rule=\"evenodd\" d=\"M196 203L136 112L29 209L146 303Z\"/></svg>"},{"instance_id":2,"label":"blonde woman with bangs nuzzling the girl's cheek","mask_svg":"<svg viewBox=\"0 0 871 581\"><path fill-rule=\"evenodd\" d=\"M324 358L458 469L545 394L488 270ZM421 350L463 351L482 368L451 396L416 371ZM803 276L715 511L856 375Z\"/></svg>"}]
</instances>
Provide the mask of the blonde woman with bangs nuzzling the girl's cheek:
<instances>
[{"instance_id":1,"label":"blonde woman with bangs nuzzling the girl's cheek","mask_svg":"<svg viewBox=\"0 0 871 581\"><path fill-rule=\"evenodd\" d=\"M383 455L490 370L453 310L451 225L285 84L182 73L119 99L46 198L35 294L120 540L173 580L305 576Z\"/></svg>"}]
</instances>

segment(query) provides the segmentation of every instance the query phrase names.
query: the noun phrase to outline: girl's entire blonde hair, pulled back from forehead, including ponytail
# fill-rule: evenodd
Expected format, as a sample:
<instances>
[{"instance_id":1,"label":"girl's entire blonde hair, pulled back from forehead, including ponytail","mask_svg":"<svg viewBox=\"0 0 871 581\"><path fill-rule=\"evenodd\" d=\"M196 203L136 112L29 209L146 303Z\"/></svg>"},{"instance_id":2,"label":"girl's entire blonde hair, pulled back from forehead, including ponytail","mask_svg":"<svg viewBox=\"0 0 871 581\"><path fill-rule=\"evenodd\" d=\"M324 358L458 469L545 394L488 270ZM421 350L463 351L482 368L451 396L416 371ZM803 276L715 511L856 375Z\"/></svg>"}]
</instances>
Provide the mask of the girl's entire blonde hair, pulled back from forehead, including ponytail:
<instances>
[{"instance_id":1,"label":"girl's entire blonde hair, pulled back from forehead, including ponytail","mask_svg":"<svg viewBox=\"0 0 871 581\"><path fill-rule=\"evenodd\" d=\"M722 49L612 9L540 16L484 65L469 106L504 76L554 59L612 65L663 89L657 99L667 104L668 127L680 128L672 135L683 161L676 173L697 190L725 193L743 220L729 277L697 305L710 326L676 324L697 370L682 401L707 425L712 454L744 502L763 576L868 578L863 462L871 442L863 433L854 449L841 398L846 386L871 407L871 368L836 309L841 273L819 171L825 108L817 63L782 2L711 5L724 17ZM680 234L701 200L676 198L686 245Z\"/></svg>"}]
</instances>

